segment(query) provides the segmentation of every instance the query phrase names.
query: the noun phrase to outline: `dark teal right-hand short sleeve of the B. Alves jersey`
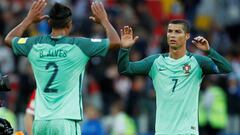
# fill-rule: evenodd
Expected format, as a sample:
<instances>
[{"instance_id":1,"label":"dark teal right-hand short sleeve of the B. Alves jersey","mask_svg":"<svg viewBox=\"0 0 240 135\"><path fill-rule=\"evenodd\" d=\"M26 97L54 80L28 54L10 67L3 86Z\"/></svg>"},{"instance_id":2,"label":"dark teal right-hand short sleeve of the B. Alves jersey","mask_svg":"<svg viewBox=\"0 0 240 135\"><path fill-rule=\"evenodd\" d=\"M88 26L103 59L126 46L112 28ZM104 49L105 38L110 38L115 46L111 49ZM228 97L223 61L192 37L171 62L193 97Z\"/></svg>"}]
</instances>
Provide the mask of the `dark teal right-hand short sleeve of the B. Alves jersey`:
<instances>
[{"instance_id":1,"label":"dark teal right-hand short sleeve of the B. Alves jersey","mask_svg":"<svg viewBox=\"0 0 240 135\"><path fill-rule=\"evenodd\" d=\"M109 48L109 39L78 38L77 45L89 57L105 56Z\"/></svg>"}]
</instances>

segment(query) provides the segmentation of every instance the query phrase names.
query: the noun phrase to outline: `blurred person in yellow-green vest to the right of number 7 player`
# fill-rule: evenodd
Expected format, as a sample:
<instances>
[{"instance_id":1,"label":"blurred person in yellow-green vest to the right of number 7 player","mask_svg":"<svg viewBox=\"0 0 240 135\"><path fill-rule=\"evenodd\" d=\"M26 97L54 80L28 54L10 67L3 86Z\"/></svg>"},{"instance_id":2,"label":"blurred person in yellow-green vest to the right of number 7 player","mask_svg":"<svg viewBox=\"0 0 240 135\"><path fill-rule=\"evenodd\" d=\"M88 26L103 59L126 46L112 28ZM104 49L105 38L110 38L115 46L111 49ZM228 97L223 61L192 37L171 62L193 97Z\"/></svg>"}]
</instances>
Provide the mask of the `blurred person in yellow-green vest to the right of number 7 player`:
<instances>
[{"instance_id":1,"label":"blurred person in yellow-green vest to the right of number 7 player","mask_svg":"<svg viewBox=\"0 0 240 135\"><path fill-rule=\"evenodd\" d=\"M205 82L205 85L199 103L200 134L219 135L227 127L227 97L224 90L212 81Z\"/></svg>"}]
</instances>

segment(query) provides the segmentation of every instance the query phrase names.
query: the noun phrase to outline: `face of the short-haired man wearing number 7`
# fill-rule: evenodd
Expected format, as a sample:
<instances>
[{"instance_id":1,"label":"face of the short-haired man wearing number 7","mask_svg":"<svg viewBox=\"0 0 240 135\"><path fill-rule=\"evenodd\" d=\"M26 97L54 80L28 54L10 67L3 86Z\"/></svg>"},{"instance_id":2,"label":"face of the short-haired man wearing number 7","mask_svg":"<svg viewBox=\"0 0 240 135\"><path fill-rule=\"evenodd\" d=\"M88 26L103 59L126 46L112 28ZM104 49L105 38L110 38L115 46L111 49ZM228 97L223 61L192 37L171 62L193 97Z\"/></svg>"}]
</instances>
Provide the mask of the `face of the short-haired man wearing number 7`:
<instances>
[{"instance_id":1,"label":"face of the short-haired man wearing number 7","mask_svg":"<svg viewBox=\"0 0 240 135\"><path fill-rule=\"evenodd\" d=\"M182 24L169 24L167 30L167 42L170 48L177 50L186 44L189 33L185 33Z\"/></svg>"}]
</instances>

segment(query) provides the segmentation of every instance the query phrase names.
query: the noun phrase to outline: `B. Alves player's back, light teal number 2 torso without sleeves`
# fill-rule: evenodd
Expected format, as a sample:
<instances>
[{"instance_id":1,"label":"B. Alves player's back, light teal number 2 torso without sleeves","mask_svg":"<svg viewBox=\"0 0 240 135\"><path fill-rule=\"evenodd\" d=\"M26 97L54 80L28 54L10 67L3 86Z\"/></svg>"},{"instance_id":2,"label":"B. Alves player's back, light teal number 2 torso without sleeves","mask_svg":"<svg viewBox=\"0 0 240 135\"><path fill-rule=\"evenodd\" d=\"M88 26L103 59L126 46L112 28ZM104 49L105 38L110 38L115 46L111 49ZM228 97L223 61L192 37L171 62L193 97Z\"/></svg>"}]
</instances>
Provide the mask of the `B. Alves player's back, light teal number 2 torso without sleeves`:
<instances>
[{"instance_id":1,"label":"B. Alves player's back, light teal number 2 torso without sleeves","mask_svg":"<svg viewBox=\"0 0 240 135\"><path fill-rule=\"evenodd\" d=\"M81 118L81 76L89 58L76 44L42 36L33 45L28 57L37 82L36 119Z\"/></svg>"}]
</instances>

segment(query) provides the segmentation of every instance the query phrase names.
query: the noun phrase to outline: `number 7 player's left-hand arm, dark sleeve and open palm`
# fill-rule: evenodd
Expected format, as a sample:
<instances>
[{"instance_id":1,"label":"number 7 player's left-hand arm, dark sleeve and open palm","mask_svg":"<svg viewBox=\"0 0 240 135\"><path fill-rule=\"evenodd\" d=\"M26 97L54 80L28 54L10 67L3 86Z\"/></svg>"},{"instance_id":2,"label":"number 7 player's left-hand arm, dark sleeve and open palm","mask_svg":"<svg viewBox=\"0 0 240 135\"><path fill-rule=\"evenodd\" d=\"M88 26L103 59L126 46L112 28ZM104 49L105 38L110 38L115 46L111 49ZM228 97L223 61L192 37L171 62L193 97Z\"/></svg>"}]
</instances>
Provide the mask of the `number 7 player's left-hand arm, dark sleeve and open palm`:
<instances>
[{"instance_id":1,"label":"number 7 player's left-hand arm, dark sleeve and open palm","mask_svg":"<svg viewBox=\"0 0 240 135\"><path fill-rule=\"evenodd\" d=\"M129 48L133 46L138 37L133 38L131 27L125 26L121 29L121 49L118 55L118 70L124 75L148 75L154 60L158 55L149 56L143 60L130 62Z\"/></svg>"}]
</instances>

